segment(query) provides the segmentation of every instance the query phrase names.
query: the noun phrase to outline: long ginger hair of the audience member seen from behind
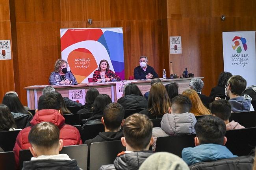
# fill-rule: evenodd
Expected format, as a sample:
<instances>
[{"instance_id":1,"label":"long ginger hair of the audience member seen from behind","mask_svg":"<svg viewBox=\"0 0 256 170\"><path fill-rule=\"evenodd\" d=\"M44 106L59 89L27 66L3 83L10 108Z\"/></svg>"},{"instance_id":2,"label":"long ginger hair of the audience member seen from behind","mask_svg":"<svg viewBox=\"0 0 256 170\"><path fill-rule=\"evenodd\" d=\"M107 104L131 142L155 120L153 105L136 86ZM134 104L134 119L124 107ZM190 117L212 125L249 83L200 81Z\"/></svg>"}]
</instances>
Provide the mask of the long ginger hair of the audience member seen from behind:
<instances>
[{"instance_id":1,"label":"long ginger hair of the audience member seen from behind","mask_svg":"<svg viewBox=\"0 0 256 170\"><path fill-rule=\"evenodd\" d=\"M182 92L182 95L185 95L189 98L192 102L192 107L190 112L193 113L195 116L202 116L202 115L210 115L211 112L207 109L204 104L202 103L200 97L197 95L195 90L185 90Z\"/></svg>"}]
</instances>

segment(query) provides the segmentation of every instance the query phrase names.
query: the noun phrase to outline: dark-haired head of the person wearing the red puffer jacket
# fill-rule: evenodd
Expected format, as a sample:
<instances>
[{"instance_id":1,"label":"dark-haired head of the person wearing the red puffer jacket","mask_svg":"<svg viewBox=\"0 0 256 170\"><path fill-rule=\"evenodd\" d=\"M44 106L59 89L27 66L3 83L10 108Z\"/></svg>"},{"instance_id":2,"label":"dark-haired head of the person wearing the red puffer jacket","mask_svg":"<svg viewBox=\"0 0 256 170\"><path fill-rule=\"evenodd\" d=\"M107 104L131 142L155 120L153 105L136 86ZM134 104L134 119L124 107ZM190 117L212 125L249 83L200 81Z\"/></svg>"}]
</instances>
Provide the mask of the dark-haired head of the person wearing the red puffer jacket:
<instances>
[{"instance_id":1,"label":"dark-haired head of the person wearing the red puffer jacket","mask_svg":"<svg viewBox=\"0 0 256 170\"><path fill-rule=\"evenodd\" d=\"M61 110L61 101L56 92L41 95L38 100L38 110L55 109Z\"/></svg>"}]
</instances>

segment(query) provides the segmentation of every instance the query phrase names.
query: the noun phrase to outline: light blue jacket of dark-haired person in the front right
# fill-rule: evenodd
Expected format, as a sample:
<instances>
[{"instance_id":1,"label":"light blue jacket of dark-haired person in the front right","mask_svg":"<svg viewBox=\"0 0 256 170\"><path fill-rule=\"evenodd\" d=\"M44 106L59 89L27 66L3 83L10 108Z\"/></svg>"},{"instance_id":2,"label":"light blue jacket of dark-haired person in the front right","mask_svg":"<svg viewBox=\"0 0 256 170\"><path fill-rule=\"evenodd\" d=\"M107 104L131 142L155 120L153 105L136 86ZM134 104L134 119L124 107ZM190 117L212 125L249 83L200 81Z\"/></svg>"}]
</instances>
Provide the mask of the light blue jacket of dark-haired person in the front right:
<instances>
[{"instance_id":1,"label":"light blue jacket of dark-haired person in the front right","mask_svg":"<svg viewBox=\"0 0 256 170\"><path fill-rule=\"evenodd\" d=\"M194 148L189 147L182 150L182 159L189 166L199 162L217 161L232 157L237 156L233 155L226 146L213 143L200 144Z\"/></svg>"}]
</instances>

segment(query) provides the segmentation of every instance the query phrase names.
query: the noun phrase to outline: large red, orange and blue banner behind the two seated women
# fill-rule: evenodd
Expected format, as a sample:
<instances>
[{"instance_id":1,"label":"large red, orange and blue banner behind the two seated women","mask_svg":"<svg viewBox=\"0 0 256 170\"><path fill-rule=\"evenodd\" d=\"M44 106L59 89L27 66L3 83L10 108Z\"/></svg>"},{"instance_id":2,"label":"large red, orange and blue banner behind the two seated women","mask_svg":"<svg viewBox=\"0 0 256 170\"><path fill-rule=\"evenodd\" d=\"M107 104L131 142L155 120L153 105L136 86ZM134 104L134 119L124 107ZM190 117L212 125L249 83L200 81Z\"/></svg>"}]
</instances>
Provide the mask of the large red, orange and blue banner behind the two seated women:
<instances>
[{"instance_id":1,"label":"large red, orange and blue banner behind the two seated women","mask_svg":"<svg viewBox=\"0 0 256 170\"><path fill-rule=\"evenodd\" d=\"M124 80L122 28L60 29L61 58L69 64L78 83L88 82L101 60Z\"/></svg>"}]
</instances>

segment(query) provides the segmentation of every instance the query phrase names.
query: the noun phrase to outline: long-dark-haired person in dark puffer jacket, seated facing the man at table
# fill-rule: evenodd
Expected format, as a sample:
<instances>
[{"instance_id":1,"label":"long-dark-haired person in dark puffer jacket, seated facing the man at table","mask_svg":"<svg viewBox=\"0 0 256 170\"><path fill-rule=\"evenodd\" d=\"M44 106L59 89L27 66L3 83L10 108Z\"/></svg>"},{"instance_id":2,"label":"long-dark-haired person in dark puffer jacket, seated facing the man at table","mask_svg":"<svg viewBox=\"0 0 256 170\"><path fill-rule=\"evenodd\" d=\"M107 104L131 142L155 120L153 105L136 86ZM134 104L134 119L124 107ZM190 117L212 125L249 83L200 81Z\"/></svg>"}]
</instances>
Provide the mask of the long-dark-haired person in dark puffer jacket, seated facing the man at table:
<instances>
[{"instance_id":1,"label":"long-dark-haired person in dark puffer jacket, seated facing the man at table","mask_svg":"<svg viewBox=\"0 0 256 170\"><path fill-rule=\"evenodd\" d=\"M148 101L143 97L138 86L132 83L125 86L124 96L118 99L117 102L124 107L124 110L148 107Z\"/></svg>"}]
</instances>

